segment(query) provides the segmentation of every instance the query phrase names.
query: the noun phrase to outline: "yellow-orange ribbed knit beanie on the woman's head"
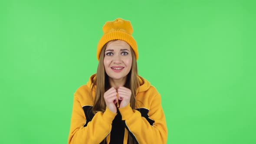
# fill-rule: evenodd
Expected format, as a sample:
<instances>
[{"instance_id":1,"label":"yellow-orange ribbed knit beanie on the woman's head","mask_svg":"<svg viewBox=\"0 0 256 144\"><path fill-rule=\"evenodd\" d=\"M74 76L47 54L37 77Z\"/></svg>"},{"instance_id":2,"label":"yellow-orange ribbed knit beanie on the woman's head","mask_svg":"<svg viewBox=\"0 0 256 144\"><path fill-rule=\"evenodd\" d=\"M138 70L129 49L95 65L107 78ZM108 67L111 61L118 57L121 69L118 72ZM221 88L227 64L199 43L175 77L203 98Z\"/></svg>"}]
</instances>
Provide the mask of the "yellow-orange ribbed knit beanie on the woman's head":
<instances>
[{"instance_id":1,"label":"yellow-orange ribbed knit beanie on the woman's head","mask_svg":"<svg viewBox=\"0 0 256 144\"><path fill-rule=\"evenodd\" d=\"M136 60L138 59L138 48L135 39L131 36L133 29L131 22L121 18L114 21L107 21L103 26L103 36L98 42L97 59L99 60L102 47L111 40L119 39L128 43L135 52Z\"/></svg>"}]
</instances>

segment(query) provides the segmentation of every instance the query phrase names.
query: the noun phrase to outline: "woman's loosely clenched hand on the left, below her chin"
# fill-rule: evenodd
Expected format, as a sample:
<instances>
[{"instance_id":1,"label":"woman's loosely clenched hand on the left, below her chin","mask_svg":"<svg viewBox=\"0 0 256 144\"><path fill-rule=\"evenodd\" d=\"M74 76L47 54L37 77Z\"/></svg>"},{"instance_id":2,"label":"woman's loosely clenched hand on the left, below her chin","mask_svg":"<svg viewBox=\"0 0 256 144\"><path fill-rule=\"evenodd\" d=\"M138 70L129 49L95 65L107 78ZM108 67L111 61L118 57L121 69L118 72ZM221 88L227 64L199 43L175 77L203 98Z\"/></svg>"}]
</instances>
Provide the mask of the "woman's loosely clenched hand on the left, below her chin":
<instances>
[{"instance_id":1,"label":"woman's loosely clenched hand on the left, below her chin","mask_svg":"<svg viewBox=\"0 0 256 144\"><path fill-rule=\"evenodd\" d=\"M104 100L109 110L116 113L117 109L115 104L117 103L117 92L114 87L108 89L107 92L104 93Z\"/></svg>"}]
</instances>

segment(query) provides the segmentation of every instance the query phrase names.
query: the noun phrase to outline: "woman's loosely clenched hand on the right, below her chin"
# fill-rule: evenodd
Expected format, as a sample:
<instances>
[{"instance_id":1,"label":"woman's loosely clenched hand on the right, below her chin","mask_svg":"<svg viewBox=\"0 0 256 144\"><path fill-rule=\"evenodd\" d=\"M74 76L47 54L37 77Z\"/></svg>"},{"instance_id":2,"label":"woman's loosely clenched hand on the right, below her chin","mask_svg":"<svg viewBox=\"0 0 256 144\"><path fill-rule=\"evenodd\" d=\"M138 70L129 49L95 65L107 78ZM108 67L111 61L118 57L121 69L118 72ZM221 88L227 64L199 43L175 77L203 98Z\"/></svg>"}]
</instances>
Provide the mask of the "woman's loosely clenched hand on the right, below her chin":
<instances>
[{"instance_id":1,"label":"woman's loosely clenched hand on the right, below her chin","mask_svg":"<svg viewBox=\"0 0 256 144\"><path fill-rule=\"evenodd\" d=\"M121 103L119 103L119 108L123 108L130 103L131 90L129 88L120 86L117 90L117 93L118 93L118 100L121 101Z\"/></svg>"}]
</instances>

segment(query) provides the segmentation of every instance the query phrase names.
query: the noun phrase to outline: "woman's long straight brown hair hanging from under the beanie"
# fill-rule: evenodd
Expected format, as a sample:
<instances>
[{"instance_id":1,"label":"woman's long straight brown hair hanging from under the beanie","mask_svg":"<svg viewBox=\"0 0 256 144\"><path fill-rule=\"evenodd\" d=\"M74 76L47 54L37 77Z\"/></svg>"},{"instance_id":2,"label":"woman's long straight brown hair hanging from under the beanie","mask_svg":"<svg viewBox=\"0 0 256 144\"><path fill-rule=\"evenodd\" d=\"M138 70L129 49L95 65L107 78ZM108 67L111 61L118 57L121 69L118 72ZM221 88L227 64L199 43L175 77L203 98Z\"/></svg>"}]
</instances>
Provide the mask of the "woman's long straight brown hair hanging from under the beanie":
<instances>
[{"instance_id":1,"label":"woman's long straight brown hair hanging from under the beanie","mask_svg":"<svg viewBox=\"0 0 256 144\"><path fill-rule=\"evenodd\" d=\"M93 89L93 87L96 86L95 98L94 98L93 107L92 107L92 112L94 114L98 111L105 112L105 109L106 109L106 103L105 103L103 96L104 96L104 93L110 88L110 84L108 82L108 75L105 72L103 61L104 61L104 57L105 57L105 49L106 49L108 43L106 43L103 46L102 51L100 53L96 78L92 82L92 87L91 87ZM132 109L135 109L135 105L136 105L135 96L136 96L136 93L138 93L138 88L139 88L140 84L139 84L139 80L138 80L137 61L135 58L135 53L132 48L131 48L131 57L132 57L131 70L127 75L126 82L125 82L124 86L126 88L131 89L130 105L131 105ZM92 97L92 89L91 89L91 97ZM106 141L106 138L102 141L102 144L105 144L105 141ZM130 134L128 134L128 143L129 144L136 143Z\"/></svg>"}]
</instances>

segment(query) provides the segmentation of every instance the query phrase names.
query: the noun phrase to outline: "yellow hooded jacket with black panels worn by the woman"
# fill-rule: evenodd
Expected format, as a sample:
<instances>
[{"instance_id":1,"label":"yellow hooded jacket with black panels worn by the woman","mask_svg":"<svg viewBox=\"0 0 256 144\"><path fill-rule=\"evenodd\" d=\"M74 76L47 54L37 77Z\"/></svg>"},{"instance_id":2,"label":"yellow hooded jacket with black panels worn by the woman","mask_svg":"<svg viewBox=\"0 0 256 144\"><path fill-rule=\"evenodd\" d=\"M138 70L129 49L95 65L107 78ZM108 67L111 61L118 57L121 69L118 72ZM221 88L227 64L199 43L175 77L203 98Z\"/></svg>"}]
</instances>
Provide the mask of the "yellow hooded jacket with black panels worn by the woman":
<instances>
[{"instance_id":1,"label":"yellow hooded jacket with black panels worn by the woman","mask_svg":"<svg viewBox=\"0 0 256 144\"><path fill-rule=\"evenodd\" d=\"M90 111L95 97L95 87L92 90L93 79L96 74L90 76L86 85L80 86L74 93L71 125L68 144L99 144L106 137L107 144L110 141L112 121L116 113L108 108L105 112L98 111L95 115ZM123 144L127 144L128 133L138 144L166 144L167 126L164 111L161 106L161 96L146 79L138 76L140 87L135 109L130 104L118 108L121 119L125 124Z\"/></svg>"}]
</instances>

